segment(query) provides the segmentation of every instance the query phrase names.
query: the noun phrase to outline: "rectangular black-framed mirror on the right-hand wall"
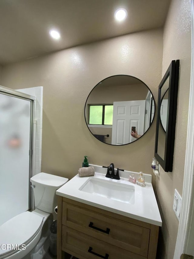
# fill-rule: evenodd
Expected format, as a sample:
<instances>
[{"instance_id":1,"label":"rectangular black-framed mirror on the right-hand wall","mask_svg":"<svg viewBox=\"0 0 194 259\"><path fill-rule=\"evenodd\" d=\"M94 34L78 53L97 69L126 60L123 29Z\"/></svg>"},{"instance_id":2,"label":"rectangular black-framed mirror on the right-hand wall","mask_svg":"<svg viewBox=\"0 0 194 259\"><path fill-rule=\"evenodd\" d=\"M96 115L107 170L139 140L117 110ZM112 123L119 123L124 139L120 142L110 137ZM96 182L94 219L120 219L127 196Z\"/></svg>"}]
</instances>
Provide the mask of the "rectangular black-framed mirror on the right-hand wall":
<instances>
[{"instance_id":1,"label":"rectangular black-framed mirror on the right-hand wall","mask_svg":"<svg viewBox=\"0 0 194 259\"><path fill-rule=\"evenodd\" d=\"M172 172L178 83L179 60L172 60L158 89L155 158L165 172Z\"/></svg>"}]
</instances>

